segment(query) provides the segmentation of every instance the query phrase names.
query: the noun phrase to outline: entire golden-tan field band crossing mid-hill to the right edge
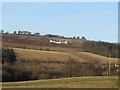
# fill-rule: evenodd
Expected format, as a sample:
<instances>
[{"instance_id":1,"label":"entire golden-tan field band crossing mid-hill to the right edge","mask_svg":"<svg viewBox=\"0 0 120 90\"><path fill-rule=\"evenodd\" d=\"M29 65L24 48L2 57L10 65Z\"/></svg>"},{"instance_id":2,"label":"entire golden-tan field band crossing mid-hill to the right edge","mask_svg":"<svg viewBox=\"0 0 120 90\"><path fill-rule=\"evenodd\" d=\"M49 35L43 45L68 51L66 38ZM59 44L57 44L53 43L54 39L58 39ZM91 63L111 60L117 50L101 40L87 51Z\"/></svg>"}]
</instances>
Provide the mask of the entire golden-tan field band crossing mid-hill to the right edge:
<instances>
[{"instance_id":1,"label":"entire golden-tan field band crossing mid-hill to the right edge","mask_svg":"<svg viewBox=\"0 0 120 90\"><path fill-rule=\"evenodd\" d=\"M80 62L98 62L108 63L110 60L112 64L118 63L116 58L107 58L104 56L86 53L86 52L58 52L58 51L42 51L42 50L30 50L14 48L14 52L17 58L24 60L58 60L67 61L70 58L78 60Z\"/></svg>"}]
</instances>

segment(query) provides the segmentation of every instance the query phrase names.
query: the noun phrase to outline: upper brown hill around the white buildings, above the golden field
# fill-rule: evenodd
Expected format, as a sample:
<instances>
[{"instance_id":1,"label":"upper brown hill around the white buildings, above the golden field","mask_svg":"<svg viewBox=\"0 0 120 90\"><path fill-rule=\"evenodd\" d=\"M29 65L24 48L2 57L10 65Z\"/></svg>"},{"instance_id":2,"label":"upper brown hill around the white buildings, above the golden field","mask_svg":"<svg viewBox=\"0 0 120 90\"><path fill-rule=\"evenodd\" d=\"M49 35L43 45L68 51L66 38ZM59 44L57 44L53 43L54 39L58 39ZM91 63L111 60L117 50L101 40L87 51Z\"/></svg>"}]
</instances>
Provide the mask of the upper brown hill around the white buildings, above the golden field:
<instances>
[{"instance_id":1,"label":"upper brown hill around the white buildings, above the golden field","mask_svg":"<svg viewBox=\"0 0 120 90\"><path fill-rule=\"evenodd\" d=\"M68 41L69 44L56 44L50 42L50 40L56 41ZM2 35L3 46L7 47L19 47L19 48L31 48L31 49L48 49L59 48L72 48L77 51L91 52L94 54L103 55L106 57L118 56L118 45L108 42L96 42L89 40L81 40L74 38L64 37L49 37L49 36L30 36L30 35L15 35L15 34L3 34ZM42 48L41 48L42 47Z\"/></svg>"}]
</instances>

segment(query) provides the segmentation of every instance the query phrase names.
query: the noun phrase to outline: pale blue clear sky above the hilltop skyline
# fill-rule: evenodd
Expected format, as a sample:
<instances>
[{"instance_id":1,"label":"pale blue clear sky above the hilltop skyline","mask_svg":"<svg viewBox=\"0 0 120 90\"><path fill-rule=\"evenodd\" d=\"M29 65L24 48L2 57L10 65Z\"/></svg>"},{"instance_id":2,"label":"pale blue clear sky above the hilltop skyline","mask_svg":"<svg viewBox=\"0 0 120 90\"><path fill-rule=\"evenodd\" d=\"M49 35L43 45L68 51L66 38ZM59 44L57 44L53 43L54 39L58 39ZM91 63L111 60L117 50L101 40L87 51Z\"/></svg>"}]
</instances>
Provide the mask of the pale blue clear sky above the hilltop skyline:
<instances>
[{"instance_id":1,"label":"pale blue clear sky above the hilltop skyline","mask_svg":"<svg viewBox=\"0 0 120 90\"><path fill-rule=\"evenodd\" d=\"M3 2L0 29L117 42L118 3Z\"/></svg>"}]
</instances>

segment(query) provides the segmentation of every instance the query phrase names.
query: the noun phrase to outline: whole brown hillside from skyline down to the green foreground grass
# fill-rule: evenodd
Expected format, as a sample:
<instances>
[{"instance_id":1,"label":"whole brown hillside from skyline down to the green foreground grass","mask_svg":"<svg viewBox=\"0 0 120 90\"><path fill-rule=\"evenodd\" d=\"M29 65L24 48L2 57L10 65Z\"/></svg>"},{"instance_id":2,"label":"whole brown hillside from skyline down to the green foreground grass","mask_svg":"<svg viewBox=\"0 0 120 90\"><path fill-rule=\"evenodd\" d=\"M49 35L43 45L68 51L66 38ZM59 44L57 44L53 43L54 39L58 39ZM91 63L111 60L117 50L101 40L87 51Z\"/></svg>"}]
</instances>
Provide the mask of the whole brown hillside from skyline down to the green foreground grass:
<instances>
[{"instance_id":1,"label":"whole brown hillside from skyline down to the green foreground grass","mask_svg":"<svg viewBox=\"0 0 120 90\"><path fill-rule=\"evenodd\" d=\"M60 43L66 41L69 43ZM116 55L115 44L12 34L3 34L2 44L4 82L118 75L118 67L115 66L118 59L113 58ZM111 51L109 45L114 47ZM107 57L109 54L111 58Z\"/></svg>"}]
</instances>

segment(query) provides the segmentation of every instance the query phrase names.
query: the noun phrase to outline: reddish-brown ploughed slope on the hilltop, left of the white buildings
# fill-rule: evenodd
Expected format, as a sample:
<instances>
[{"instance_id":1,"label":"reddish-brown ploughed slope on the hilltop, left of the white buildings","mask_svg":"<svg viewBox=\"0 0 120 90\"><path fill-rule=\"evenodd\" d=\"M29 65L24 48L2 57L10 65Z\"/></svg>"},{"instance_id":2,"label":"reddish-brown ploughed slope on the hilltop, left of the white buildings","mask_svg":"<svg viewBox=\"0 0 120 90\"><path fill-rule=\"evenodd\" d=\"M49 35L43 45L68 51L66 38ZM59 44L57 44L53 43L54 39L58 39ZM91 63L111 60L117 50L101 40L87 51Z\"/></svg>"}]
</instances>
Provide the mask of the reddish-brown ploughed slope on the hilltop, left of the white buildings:
<instances>
[{"instance_id":1,"label":"reddish-brown ploughed slope on the hilltop, left of the white buildings","mask_svg":"<svg viewBox=\"0 0 120 90\"><path fill-rule=\"evenodd\" d=\"M54 45L45 37L28 35L2 35L3 43L29 44L29 45Z\"/></svg>"}]
</instances>

